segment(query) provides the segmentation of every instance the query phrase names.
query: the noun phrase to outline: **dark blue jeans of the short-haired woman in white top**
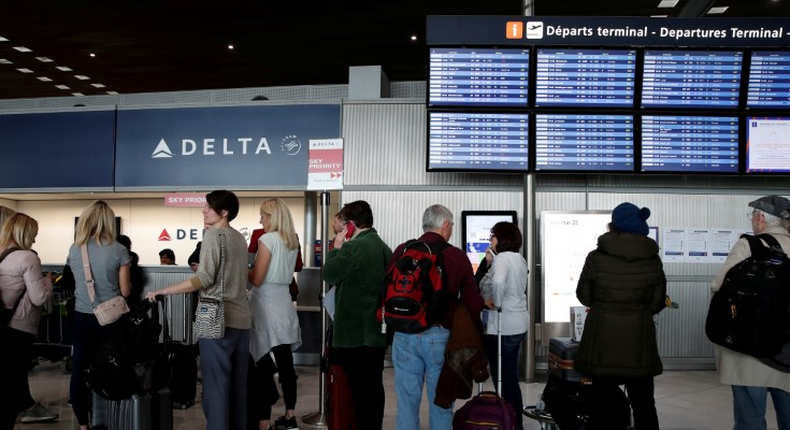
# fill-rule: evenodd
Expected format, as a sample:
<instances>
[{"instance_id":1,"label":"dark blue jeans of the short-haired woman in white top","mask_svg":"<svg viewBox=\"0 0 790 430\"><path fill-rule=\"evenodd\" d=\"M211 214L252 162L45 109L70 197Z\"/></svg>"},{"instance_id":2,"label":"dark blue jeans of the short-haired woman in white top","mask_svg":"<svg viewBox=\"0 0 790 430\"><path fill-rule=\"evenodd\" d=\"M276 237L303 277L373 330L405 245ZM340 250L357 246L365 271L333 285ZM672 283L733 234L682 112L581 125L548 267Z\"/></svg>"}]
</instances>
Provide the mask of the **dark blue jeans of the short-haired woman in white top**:
<instances>
[{"instance_id":1,"label":"dark blue jeans of the short-haired woman in white top","mask_svg":"<svg viewBox=\"0 0 790 430\"><path fill-rule=\"evenodd\" d=\"M521 414L523 401L521 400L521 386L518 385L518 352L525 335L526 333L502 336L502 392L498 394L516 411L518 429L523 426ZM494 387L496 387L497 375L499 375L497 337L487 334L483 342L488 357L488 366L491 368L491 380L494 381Z\"/></svg>"}]
</instances>

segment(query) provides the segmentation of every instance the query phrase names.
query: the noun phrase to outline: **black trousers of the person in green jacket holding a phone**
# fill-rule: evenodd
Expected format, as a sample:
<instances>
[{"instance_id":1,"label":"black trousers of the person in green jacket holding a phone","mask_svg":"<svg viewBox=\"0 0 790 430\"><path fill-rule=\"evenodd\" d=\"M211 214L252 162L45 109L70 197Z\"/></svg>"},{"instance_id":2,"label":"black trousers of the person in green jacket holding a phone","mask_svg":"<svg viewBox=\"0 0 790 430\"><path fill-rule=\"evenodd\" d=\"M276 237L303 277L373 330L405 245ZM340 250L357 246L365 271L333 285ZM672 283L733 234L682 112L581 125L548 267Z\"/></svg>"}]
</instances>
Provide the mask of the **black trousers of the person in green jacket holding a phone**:
<instances>
[{"instance_id":1,"label":"black trousers of the person in green jacket holding a phone","mask_svg":"<svg viewBox=\"0 0 790 430\"><path fill-rule=\"evenodd\" d=\"M335 348L335 357L343 368L354 402L358 429L381 430L384 420L385 346Z\"/></svg>"}]
</instances>

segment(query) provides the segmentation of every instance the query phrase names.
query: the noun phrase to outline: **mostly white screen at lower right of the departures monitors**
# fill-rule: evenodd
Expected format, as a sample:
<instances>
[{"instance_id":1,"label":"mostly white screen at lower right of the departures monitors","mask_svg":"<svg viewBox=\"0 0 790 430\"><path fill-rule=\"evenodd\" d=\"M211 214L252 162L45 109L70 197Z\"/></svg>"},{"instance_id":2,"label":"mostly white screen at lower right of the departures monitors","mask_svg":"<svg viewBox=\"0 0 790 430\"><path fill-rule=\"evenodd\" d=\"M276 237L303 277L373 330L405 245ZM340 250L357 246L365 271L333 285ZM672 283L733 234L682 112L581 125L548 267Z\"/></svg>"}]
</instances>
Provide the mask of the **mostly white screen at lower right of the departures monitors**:
<instances>
[{"instance_id":1,"label":"mostly white screen at lower right of the departures monitors","mask_svg":"<svg viewBox=\"0 0 790 430\"><path fill-rule=\"evenodd\" d=\"M790 173L790 117L746 118L746 173Z\"/></svg>"}]
</instances>

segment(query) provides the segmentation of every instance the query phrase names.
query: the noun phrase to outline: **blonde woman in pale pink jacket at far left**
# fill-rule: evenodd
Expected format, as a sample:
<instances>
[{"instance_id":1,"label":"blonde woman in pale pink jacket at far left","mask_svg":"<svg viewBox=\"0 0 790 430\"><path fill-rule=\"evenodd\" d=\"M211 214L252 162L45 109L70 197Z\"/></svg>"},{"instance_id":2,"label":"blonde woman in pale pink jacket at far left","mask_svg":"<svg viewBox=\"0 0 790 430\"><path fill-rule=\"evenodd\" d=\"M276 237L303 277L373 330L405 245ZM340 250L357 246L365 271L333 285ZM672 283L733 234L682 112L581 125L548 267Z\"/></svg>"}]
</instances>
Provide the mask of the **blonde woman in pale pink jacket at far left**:
<instances>
[{"instance_id":1,"label":"blonde woman in pale pink jacket at far left","mask_svg":"<svg viewBox=\"0 0 790 430\"><path fill-rule=\"evenodd\" d=\"M33 218L0 206L0 297L2 307L14 309L0 328L0 345L12 353L0 354L0 429L13 429L16 416L35 405L30 396L27 371L38 335L40 306L52 298L52 278L42 275L41 260L31 250L38 235Z\"/></svg>"}]
</instances>

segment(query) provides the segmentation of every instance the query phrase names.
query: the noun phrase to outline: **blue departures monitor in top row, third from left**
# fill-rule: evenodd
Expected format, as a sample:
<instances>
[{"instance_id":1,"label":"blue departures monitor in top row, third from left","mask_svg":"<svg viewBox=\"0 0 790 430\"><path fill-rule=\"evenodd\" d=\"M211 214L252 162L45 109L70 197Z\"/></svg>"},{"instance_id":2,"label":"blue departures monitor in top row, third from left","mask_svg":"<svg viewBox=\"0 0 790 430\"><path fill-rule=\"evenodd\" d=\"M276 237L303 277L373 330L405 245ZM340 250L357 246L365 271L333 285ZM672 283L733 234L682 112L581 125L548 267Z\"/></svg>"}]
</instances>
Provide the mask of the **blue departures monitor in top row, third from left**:
<instances>
[{"instance_id":1,"label":"blue departures monitor in top row, third from left","mask_svg":"<svg viewBox=\"0 0 790 430\"><path fill-rule=\"evenodd\" d=\"M738 107L743 53L740 51L646 50L642 107Z\"/></svg>"}]
</instances>

